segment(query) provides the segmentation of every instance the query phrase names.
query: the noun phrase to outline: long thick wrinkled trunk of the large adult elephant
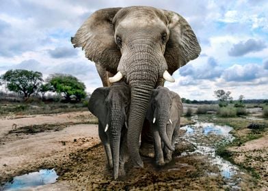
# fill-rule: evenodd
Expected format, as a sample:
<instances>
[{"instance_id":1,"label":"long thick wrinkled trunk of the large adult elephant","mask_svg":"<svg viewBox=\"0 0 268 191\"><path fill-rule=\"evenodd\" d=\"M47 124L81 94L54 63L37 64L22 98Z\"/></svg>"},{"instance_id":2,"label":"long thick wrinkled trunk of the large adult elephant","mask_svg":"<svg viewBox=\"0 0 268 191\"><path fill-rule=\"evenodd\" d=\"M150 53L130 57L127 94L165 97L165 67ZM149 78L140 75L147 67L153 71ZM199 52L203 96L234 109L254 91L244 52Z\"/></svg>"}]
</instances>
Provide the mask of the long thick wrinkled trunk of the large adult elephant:
<instances>
[{"instance_id":1,"label":"long thick wrinkled trunk of the large adult elephant","mask_svg":"<svg viewBox=\"0 0 268 191\"><path fill-rule=\"evenodd\" d=\"M143 167L139 156L139 137L152 89L167 68L165 59L163 55L159 55L157 47L157 44L146 35L131 39L129 46L126 47L129 48L129 54L122 55L120 60L122 65L118 66L118 70L122 71L126 76L126 82L131 86L127 141L129 156L135 167Z\"/></svg>"}]
</instances>

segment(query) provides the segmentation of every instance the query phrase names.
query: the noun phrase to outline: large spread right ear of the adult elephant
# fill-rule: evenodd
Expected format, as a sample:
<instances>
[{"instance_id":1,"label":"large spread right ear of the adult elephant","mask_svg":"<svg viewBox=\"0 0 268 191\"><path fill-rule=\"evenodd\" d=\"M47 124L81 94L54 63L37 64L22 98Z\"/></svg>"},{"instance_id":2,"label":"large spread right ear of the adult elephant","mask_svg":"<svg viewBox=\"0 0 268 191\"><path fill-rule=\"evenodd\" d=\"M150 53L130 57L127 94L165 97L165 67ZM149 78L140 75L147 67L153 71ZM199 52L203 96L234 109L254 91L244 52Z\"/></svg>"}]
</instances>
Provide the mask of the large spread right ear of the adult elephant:
<instances>
[{"instance_id":1,"label":"large spread right ear of the adult elephant","mask_svg":"<svg viewBox=\"0 0 268 191\"><path fill-rule=\"evenodd\" d=\"M200 55L201 48L195 33L185 18L175 12L164 10L170 38L165 46L165 60L171 74Z\"/></svg>"}]
</instances>

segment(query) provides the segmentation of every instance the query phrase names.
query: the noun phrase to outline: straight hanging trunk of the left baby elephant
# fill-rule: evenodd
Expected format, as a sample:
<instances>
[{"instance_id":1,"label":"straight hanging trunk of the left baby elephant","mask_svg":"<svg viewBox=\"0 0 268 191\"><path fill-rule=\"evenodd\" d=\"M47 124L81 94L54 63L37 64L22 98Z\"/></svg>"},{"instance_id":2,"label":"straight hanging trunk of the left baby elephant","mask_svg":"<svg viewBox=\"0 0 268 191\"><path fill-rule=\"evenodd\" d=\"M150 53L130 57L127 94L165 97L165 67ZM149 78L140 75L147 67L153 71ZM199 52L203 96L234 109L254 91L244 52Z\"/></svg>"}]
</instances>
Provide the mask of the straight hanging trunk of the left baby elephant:
<instances>
[{"instance_id":1,"label":"straight hanging trunk of the left baby elephant","mask_svg":"<svg viewBox=\"0 0 268 191\"><path fill-rule=\"evenodd\" d=\"M110 128L110 145L113 157L113 178L118 179L119 156L120 156L120 138L122 126L124 125L124 117L121 110L113 110L111 112Z\"/></svg>"}]
</instances>

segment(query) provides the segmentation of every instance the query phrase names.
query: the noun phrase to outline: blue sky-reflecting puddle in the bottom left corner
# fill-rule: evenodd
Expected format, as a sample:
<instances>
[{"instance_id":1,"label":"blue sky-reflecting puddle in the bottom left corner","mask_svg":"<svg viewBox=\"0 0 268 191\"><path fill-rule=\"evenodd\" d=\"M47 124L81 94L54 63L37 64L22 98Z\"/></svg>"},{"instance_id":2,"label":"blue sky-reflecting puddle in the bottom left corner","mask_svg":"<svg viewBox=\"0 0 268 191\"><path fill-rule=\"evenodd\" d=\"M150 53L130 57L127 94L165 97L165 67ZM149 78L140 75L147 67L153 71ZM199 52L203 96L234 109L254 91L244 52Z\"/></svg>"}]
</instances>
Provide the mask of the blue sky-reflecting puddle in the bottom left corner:
<instances>
[{"instance_id":1,"label":"blue sky-reflecting puddle in the bottom left corner","mask_svg":"<svg viewBox=\"0 0 268 191\"><path fill-rule=\"evenodd\" d=\"M14 177L11 182L5 183L3 190L21 190L55 183L59 177L54 169L41 169L38 172Z\"/></svg>"}]
</instances>

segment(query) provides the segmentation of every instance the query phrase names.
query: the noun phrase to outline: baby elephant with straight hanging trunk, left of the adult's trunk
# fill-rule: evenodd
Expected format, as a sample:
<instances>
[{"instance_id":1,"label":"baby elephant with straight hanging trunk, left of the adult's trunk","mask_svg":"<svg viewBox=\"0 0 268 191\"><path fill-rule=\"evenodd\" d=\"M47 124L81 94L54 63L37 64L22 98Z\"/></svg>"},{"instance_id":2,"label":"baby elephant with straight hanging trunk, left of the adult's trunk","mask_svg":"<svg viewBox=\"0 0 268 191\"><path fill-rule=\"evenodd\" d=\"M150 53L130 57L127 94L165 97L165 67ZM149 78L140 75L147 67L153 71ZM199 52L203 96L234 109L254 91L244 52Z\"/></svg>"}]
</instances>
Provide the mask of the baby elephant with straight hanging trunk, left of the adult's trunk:
<instances>
[{"instance_id":1,"label":"baby elephant with straight hanging trunk, left of the adult's trunk","mask_svg":"<svg viewBox=\"0 0 268 191\"><path fill-rule=\"evenodd\" d=\"M114 179L124 175L127 156L126 129L130 104L130 88L126 83L96 89L88 104L90 112L98 118L98 135L102 141Z\"/></svg>"}]
</instances>

